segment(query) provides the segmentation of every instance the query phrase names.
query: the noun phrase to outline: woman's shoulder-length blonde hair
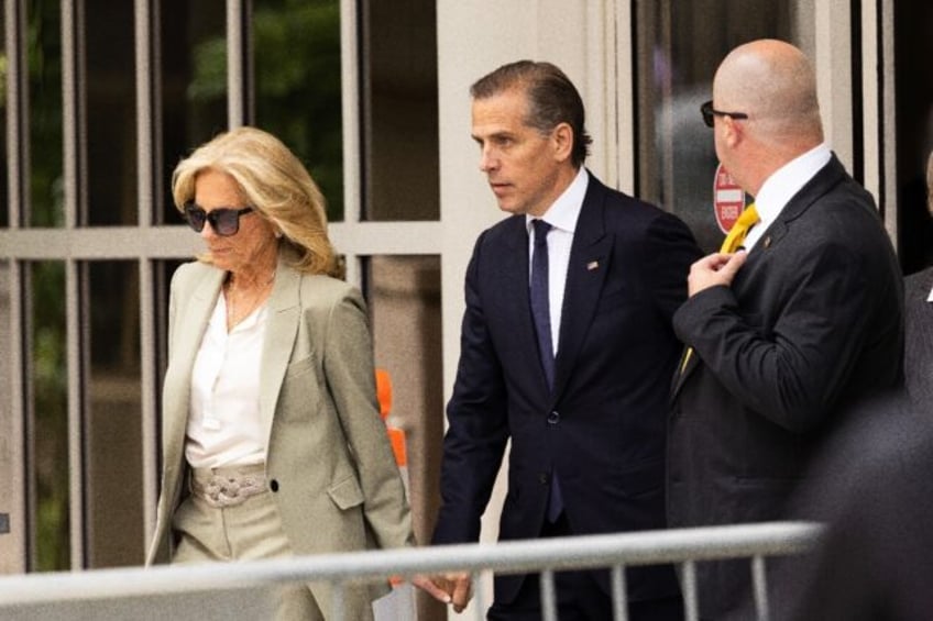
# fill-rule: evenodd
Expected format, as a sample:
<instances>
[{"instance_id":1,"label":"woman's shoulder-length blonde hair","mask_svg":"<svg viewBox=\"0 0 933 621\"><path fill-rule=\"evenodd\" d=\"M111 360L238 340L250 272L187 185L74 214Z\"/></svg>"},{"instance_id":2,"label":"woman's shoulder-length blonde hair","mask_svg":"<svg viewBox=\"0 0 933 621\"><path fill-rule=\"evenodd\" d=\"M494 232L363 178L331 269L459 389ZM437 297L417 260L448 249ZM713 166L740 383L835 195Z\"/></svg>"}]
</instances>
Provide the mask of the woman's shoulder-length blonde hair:
<instances>
[{"instance_id":1,"label":"woman's shoulder-length blonde hair","mask_svg":"<svg viewBox=\"0 0 933 621\"><path fill-rule=\"evenodd\" d=\"M281 243L297 254L293 267L310 274L342 276L327 235L325 198L301 162L272 134L237 127L199 146L172 174L175 207L184 213L195 198L199 173L217 170L233 177L246 204L282 233ZM210 262L210 255L200 257Z\"/></svg>"}]
</instances>

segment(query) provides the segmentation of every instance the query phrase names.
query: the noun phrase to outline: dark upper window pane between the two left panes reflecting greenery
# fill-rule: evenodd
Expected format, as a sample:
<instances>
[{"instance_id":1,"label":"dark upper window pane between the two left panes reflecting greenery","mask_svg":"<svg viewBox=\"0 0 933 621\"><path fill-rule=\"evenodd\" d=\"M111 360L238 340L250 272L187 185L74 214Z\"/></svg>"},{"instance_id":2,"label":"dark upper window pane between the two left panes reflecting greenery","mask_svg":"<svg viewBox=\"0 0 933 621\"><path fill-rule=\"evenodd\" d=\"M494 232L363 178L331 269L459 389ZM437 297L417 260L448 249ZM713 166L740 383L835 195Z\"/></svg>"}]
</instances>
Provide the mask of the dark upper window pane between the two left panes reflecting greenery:
<instances>
[{"instance_id":1,"label":"dark upper window pane between the two left panes reflecting greenery","mask_svg":"<svg viewBox=\"0 0 933 621\"><path fill-rule=\"evenodd\" d=\"M134 225L136 97L133 3L85 0L88 224Z\"/></svg>"}]
</instances>

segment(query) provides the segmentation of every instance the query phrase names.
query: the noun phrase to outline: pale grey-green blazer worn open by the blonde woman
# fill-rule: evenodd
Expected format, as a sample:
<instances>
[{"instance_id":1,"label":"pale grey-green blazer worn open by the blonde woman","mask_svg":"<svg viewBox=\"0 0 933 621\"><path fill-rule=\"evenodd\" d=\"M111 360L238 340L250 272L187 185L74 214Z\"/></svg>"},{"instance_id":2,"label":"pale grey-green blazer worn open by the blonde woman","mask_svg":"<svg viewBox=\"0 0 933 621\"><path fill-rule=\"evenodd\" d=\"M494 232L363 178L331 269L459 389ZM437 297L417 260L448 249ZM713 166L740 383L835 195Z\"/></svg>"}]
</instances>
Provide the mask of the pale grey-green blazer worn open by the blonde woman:
<instances>
[{"instance_id":1,"label":"pale grey-green blazer worn open by the blonde woman","mask_svg":"<svg viewBox=\"0 0 933 621\"><path fill-rule=\"evenodd\" d=\"M224 275L188 263L172 278L162 494L146 564L171 558L172 515L188 494L191 368ZM260 414L268 432L266 477L276 489L292 548L305 555L414 545L402 477L378 413L372 340L359 290L327 276L303 275L279 255L267 303ZM309 588L329 618L330 588ZM370 601L384 592L383 585L347 589L347 618L369 617Z\"/></svg>"}]
</instances>

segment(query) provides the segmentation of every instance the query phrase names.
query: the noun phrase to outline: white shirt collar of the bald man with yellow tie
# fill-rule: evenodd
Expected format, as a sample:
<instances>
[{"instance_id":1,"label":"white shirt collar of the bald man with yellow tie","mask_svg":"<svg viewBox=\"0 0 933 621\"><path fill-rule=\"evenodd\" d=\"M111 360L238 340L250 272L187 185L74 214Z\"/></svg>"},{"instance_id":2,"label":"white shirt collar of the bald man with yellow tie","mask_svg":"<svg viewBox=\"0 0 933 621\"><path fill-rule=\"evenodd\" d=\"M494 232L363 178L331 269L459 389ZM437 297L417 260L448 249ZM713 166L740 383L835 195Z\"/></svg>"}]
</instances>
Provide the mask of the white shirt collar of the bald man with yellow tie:
<instances>
[{"instance_id":1,"label":"white shirt collar of the bald man with yellow tie","mask_svg":"<svg viewBox=\"0 0 933 621\"><path fill-rule=\"evenodd\" d=\"M768 177L755 197L755 209L758 211L758 224L751 228L745 242L745 249L750 251L765 234L790 199L805 186L810 179L816 176L833 154L826 143L811 148L803 155L791 159L781 166L773 175Z\"/></svg>"}]
</instances>

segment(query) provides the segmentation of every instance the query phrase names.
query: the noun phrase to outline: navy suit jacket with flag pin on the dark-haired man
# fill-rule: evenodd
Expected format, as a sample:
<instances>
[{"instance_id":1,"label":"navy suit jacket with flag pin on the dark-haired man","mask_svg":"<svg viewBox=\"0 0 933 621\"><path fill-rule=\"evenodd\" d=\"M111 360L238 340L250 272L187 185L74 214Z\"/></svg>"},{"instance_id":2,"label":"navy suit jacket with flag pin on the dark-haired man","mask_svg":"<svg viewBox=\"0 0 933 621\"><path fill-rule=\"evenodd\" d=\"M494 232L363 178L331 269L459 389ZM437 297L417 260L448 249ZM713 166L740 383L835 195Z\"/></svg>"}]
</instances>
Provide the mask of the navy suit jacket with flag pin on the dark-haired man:
<instances>
[{"instance_id":1,"label":"navy suit jacket with flag pin on the dark-haired man","mask_svg":"<svg viewBox=\"0 0 933 621\"><path fill-rule=\"evenodd\" d=\"M508 440L500 537L541 532L557 468L574 534L665 525L665 419L680 345L670 319L699 249L676 217L590 176L567 274L553 392L528 301L528 234L516 215L478 240L448 404L435 543L473 542ZM496 578L496 600L523 577ZM669 568L629 574L636 599L677 592Z\"/></svg>"}]
</instances>

